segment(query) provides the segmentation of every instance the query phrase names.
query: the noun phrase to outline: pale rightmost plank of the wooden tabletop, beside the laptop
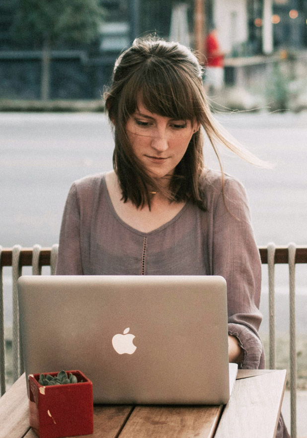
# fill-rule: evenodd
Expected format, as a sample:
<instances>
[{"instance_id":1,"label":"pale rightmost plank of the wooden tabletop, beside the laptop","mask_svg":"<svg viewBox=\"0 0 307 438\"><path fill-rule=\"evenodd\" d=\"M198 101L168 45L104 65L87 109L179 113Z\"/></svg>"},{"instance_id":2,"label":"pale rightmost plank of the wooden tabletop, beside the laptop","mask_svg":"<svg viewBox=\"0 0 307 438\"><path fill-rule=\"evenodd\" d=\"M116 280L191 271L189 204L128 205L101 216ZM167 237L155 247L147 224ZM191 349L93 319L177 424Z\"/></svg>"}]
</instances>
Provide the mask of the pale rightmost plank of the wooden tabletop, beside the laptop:
<instances>
[{"instance_id":1,"label":"pale rightmost plank of the wooden tabletop, beside the laptop","mask_svg":"<svg viewBox=\"0 0 307 438\"><path fill-rule=\"evenodd\" d=\"M285 385L285 369L236 380L214 438L274 438Z\"/></svg>"}]
</instances>

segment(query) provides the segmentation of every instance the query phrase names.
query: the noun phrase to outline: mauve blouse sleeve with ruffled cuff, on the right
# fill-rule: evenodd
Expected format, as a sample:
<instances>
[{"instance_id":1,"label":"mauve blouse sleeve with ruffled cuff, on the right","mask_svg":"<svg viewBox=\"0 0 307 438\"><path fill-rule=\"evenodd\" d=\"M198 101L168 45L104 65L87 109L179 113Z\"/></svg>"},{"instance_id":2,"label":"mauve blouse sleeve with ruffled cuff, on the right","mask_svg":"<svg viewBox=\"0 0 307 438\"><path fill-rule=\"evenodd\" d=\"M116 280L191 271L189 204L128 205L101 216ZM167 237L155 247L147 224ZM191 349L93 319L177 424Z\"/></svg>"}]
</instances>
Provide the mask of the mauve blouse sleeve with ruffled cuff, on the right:
<instances>
[{"instance_id":1,"label":"mauve blouse sleeve with ruffled cuff, on the right","mask_svg":"<svg viewBox=\"0 0 307 438\"><path fill-rule=\"evenodd\" d=\"M227 178L218 198L213 223L213 273L227 282L228 330L243 349L241 368L264 367L258 335L261 260L255 243L246 193L234 178Z\"/></svg>"}]
</instances>

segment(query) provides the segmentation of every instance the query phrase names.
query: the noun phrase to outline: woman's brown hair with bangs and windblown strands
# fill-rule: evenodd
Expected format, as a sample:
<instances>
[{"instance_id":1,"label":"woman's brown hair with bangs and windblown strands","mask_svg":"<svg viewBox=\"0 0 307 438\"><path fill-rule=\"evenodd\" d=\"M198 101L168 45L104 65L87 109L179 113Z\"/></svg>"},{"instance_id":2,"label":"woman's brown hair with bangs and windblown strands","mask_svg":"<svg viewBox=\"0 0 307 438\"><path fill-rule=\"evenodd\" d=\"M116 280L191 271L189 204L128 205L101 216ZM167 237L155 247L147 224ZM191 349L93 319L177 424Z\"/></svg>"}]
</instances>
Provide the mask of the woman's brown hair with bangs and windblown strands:
<instances>
[{"instance_id":1,"label":"woman's brown hair with bangs and windblown strands","mask_svg":"<svg viewBox=\"0 0 307 438\"><path fill-rule=\"evenodd\" d=\"M202 75L203 69L190 49L154 37L136 39L117 59L105 100L115 127L113 166L124 202L129 199L137 208L146 204L150 208L151 192L159 190L170 201L190 201L202 210L206 209L200 182L204 170L201 129L192 135L166 191L136 158L126 133L127 121L140 102L154 114L203 126L220 162L223 188L224 173L218 144L224 144L246 161L261 164L213 118L203 91Z\"/></svg>"}]
</instances>

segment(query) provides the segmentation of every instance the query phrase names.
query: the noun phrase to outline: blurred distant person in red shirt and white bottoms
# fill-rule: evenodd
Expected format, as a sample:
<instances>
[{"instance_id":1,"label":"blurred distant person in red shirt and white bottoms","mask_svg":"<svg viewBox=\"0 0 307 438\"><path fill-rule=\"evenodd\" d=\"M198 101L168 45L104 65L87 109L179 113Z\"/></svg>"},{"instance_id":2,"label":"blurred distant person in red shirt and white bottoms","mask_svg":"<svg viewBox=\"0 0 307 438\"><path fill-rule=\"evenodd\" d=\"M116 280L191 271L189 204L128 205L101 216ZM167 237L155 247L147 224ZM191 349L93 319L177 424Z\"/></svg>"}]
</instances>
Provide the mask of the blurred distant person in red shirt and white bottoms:
<instances>
[{"instance_id":1,"label":"blurred distant person in red shirt and white bottoms","mask_svg":"<svg viewBox=\"0 0 307 438\"><path fill-rule=\"evenodd\" d=\"M218 39L218 29L212 26L205 40L205 79L207 93L219 91L224 85L224 52Z\"/></svg>"}]
</instances>

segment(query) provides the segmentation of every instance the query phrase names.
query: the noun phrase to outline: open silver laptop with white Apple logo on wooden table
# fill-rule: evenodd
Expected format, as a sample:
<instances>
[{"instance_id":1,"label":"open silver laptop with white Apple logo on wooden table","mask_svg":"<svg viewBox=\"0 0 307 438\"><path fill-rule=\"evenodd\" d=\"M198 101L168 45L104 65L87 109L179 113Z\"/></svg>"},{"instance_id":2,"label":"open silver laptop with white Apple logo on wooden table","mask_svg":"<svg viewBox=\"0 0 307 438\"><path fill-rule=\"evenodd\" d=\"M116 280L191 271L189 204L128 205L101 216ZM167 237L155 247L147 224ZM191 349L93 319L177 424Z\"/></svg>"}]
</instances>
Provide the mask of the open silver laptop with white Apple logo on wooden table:
<instances>
[{"instance_id":1,"label":"open silver laptop with white Apple logo on wooden table","mask_svg":"<svg viewBox=\"0 0 307 438\"><path fill-rule=\"evenodd\" d=\"M79 369L94 403L230 398L220 276L22 276L18 298L26 376Z\"/></svg>"}]
</instances>

